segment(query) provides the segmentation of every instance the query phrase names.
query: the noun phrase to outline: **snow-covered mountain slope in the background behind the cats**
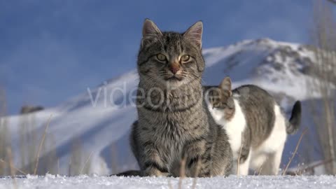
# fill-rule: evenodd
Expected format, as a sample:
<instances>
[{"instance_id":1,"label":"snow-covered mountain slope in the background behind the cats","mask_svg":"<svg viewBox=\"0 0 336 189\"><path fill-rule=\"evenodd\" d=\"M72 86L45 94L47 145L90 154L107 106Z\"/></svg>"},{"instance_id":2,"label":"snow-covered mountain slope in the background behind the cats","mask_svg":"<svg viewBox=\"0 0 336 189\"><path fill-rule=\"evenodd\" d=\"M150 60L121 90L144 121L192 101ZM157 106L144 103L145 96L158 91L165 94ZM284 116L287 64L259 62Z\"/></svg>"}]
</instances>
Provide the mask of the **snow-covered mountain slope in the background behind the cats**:
<instances>
[{"instance_id":1,"label":"snow-covered mountain slope in the background behind the cats","mask_svg":"<svg viewBox=\"0 0 336 189\"><path fill-rule=\"evenodd\" d=\"M207 65L204 85L218 85L225 76L230 76L233 87L252 83L269 90L286 110L291 109L296 99L304 101L312 97L307 95L306 84L313 78L308 71L314 59L311 50L303 45L260 39L203 52ZM52 153L57 172L68 174L71 172L69 165L78 163L70 160L76 155L71 146L78 144L82 149L78 166L85 167L85 162L90 162L90 173L110 174L137 168L130 153L128 135L130 125L137 119L132 97L138 82L137 72L130 71L95 89L83 89L83 94L54 108L26 116L1 118L1 123L7 123L10 130L15 165L25 169L34 165L34 158L22 160L22 151L31 149L28 145L35 146L36 151L52 115L40 162L48 161ZM314 96L318 97L317 94ZM308 118L303 119L304 123L311 122ZM27 122L31 126L23 130L22 125L27 126ZM283 164L295 148L298 135L288 137ZM22 136L34 136L34 143L25 143ZM22 150L22 145L26 150ZM300 155L294 161L298 162Z\"/></svg>"}]
</instances>

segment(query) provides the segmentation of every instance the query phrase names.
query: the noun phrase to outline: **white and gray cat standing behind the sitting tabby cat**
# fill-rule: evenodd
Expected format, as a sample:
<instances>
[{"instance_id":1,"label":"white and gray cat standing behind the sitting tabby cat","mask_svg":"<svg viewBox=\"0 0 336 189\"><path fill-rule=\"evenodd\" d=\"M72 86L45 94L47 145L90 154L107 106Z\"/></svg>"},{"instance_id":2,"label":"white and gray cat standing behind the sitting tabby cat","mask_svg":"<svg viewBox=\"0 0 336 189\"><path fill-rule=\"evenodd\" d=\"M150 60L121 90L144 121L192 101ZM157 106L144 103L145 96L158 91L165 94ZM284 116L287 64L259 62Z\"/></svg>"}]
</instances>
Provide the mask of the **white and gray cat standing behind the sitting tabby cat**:
<instances>
[{"instance_id":1,"label":"white and gray cat standing behind the sitting tabby cat","mask_svg":"<svg viewBox=\"0 0 336 189\"><path fill-rule=\"evenodd\" d=\"M227 77L219 87L205 88L211 115L229 135L233 174L237 173L238 158L241 175L247 175L249 168L264 175L278 174L286 137L300 126L300 102L295 102L287 120L272 95L258 86L242 85L232 90Z\"/></svg>"}]
</instances>

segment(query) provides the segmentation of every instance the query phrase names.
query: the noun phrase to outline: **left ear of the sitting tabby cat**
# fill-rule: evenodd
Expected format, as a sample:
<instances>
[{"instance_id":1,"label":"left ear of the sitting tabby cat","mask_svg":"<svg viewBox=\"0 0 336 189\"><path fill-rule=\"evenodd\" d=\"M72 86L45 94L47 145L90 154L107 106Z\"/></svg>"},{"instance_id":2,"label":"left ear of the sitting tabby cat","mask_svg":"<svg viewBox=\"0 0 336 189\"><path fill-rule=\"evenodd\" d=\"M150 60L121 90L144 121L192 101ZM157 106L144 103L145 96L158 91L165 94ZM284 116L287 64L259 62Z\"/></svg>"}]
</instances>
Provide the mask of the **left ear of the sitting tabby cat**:
<instances>
[{"instance_id":1,"label":"left ear of the sitting tabby cat","mask_svg":"<svg viewBox=\"0 0 336 189\"><path fill-rule=\"evenodd\" d=\"M152 20L146 18L144 26L142 27L141 47L153 43L154 41L158 41L159 36L162 36L162 32L160 31L160 29L155 25Z\"/></svg>"}]
</instances>

